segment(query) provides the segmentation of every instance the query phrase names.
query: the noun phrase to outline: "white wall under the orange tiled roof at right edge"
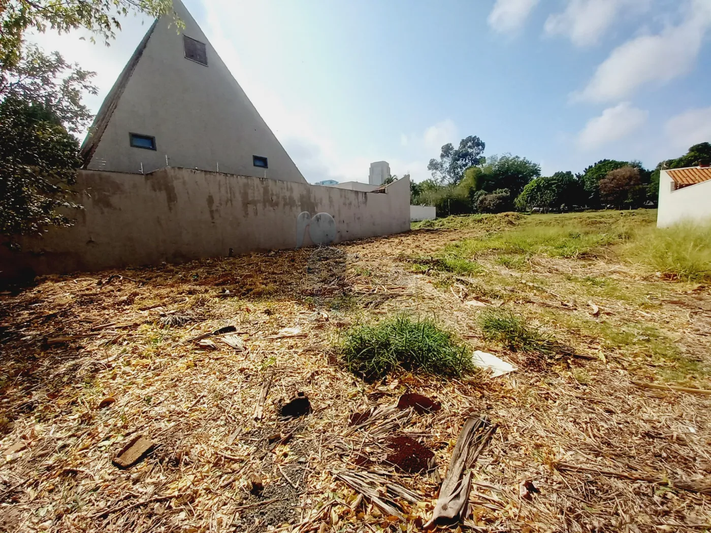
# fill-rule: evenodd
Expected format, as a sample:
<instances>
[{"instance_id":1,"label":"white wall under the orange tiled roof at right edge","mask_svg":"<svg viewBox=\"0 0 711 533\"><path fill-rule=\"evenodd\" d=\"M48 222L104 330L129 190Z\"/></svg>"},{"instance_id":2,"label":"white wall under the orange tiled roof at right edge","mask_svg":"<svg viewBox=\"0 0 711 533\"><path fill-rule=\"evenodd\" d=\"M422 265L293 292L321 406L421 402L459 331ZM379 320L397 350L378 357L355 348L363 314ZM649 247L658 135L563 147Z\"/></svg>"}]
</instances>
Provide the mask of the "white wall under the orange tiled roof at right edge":
<instances>
[{"instance_id":1,"label":"white wall under the orange tiled roof at right edge","mask_svg":"<svg viewBox=\"0 0 711 533\"><path fill-rule=\"evenodd\" d=\"M677 222L711 221L711 180L675 190L667 171L659 173L659 207L657 227Z\"/></svg>"}]
</instances>

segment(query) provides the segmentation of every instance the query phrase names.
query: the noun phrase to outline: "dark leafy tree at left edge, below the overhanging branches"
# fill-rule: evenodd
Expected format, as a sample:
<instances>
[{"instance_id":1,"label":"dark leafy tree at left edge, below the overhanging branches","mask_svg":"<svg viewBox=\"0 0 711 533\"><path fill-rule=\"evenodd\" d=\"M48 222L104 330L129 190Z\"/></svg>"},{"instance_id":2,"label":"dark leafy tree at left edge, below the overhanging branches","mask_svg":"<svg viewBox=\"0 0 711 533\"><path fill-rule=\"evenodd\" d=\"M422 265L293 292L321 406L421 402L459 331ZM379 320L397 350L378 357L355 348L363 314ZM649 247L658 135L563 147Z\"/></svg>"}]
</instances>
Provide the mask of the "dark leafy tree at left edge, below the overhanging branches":
<instances>
[{"instance_id":1,"label":"dark leafy tree at left edge, below the overhanging branches","mask_svg":"<svg viewBox=\"0 0 711 533\"><path fill-rule=\"evenodd\" d=\"M92 72L34 46L0 77L0 235L38 233L69 225L66 210L75 183L79 132L91 119L81 103L95 94Z\"/></svg>"}]
</instances>

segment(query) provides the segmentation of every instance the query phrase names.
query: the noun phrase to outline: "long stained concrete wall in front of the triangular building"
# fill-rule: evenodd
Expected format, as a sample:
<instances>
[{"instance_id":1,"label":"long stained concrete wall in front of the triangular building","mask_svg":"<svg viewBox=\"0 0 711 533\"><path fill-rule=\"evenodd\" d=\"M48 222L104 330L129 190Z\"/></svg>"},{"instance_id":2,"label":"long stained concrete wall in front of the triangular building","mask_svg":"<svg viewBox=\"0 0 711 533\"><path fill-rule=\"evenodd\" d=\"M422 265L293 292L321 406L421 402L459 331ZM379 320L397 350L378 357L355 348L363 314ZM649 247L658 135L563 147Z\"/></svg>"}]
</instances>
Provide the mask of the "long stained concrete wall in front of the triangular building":
<instances>
[{"instance_id":1,"label":"long stained concrete wall in front of the triangular building","mask_svg":"<svg viewBox=\"0 0 711 533\"><path fill-rule=\"evenodd\" d=\"M85 193L78 199L84 210L75 226L23 239L20 253L0 246L0 276L28 269L50 274L183 262L226 256L230 248L235 254L294 248L297 218L304 211L333 217L334 242L410 229L405 179L388 185L385 193L363 193L164 168L146 176L80 171L76 188ZM304 245L309 244L306 232Z\"/></svg>"}]
</instances>

